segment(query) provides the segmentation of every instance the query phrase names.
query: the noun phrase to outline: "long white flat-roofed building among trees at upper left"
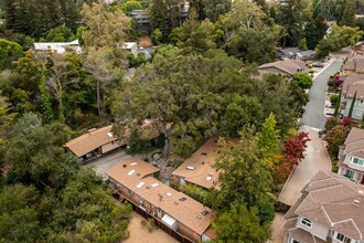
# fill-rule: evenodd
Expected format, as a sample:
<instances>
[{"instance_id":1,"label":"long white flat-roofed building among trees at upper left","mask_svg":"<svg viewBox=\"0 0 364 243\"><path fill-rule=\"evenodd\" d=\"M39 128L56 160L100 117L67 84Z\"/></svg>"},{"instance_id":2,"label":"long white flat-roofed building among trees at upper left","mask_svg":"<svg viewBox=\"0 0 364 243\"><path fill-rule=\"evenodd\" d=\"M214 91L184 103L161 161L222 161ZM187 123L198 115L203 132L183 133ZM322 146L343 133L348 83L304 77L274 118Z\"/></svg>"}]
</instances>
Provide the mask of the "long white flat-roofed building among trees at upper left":
<instances>
[{"instance_id":1,"label":"long white flat-roofed building among trees at upper left","mask_svg":"<svg viewBox=\"0 0 364 243\"><path fill-rule=\"evenodd\" d=\"M66 51L74 51L77 54L82 53L78 40L72 42L35 42L34 51L52 51L60 54Z\"/></svg>"}]
</instances>

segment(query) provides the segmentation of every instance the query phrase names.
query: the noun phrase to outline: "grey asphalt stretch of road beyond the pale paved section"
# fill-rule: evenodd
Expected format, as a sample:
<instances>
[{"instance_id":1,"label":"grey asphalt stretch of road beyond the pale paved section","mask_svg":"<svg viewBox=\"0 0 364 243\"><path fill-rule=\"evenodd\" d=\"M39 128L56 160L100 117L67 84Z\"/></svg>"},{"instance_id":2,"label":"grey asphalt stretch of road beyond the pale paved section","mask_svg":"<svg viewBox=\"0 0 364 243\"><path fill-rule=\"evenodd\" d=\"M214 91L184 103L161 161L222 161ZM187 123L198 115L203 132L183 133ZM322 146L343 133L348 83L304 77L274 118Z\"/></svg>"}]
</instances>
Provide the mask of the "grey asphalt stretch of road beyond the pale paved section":
<instances>
[{"instance_id":1,"label":"grey asphalt stretch of road beyond the pale paved section","mask_svg":"<svg viewBox=\"0 0 364 243\"><path fill-rule=\"evenodd\" d=\"M309 92L310 102L306 106L306 112L301 119L301 125L314 128L324 128L326 118L323 114L326 84L330 75L336 73L342 65L342 60L336 59L331 65L323 70L314 80Z\"/></svg>"}]
</instances>

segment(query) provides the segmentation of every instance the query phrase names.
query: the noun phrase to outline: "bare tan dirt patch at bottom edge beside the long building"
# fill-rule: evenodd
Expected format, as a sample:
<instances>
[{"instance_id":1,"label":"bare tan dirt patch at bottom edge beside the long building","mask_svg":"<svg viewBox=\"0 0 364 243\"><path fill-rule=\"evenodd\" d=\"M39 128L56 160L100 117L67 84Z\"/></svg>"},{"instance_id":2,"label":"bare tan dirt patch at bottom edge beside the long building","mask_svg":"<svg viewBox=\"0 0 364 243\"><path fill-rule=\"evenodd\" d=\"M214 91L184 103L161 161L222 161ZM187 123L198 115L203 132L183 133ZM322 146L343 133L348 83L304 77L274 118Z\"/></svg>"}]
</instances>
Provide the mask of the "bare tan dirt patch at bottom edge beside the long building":
<instances>
[{"instance_id":1,"label":"bare tan dirt patch at bottom edge beside the long building","mask_svg":"<svg viewBox=\"0 0 364 243\"><path fill-rule=\"evenodd\" d=\"M122 242L125 243L178 243L175 239L170 236L161 229L148 231L146 225L141 224L143 218L132 211L130 213L130 223L128 230L130 232L129 237Z\"/></svg>"}]
</instances>

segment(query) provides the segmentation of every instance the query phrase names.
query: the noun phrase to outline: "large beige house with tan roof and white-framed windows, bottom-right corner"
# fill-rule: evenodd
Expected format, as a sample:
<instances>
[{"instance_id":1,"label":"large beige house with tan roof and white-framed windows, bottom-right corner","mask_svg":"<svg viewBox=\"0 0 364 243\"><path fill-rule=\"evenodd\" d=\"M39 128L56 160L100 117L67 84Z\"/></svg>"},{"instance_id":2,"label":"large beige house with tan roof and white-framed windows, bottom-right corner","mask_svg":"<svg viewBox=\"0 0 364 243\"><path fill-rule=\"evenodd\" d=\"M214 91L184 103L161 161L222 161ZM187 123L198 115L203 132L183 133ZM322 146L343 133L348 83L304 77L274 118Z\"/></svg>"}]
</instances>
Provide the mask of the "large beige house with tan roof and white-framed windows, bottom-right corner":
<instances>
[{"instance_id":1,"label":"large beige house with tan roof and white-framed windows, bottom-right corner","mask_svg":"<svg viewBox=\"0 0 364 243\"><path fill-rule=\"evenodd\" d=\"M283 219L285 243L363 243L364 187L318 171Z\"/></svg>"}]
</instances>

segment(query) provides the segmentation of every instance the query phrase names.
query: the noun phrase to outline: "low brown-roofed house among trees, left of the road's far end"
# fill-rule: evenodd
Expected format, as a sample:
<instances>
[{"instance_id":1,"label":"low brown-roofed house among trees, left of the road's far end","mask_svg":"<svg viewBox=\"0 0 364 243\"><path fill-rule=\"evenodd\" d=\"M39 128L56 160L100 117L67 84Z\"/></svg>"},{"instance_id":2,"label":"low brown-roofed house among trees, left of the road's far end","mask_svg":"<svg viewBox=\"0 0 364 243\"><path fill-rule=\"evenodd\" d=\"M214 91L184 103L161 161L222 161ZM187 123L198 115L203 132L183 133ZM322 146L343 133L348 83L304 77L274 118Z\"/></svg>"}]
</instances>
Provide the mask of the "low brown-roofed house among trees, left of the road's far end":
<instances>
[{"instance_id":1,"label":"low brown-roofed house among trees, left of the road's far end","mask_svg":"<svg viewBox=\"0 0 364 243\"><path fill-rule=\"evenodd\" d=\"M308 72L308 68L306 63L301 60L283 60L265 63L258 66L258 72L261 76L267 73L276 73L288 77L293 77L298 72Z\"/></svg>"}]
</instances>

